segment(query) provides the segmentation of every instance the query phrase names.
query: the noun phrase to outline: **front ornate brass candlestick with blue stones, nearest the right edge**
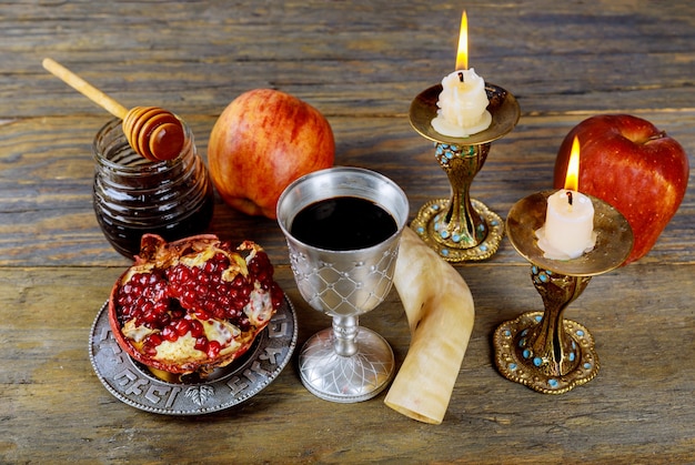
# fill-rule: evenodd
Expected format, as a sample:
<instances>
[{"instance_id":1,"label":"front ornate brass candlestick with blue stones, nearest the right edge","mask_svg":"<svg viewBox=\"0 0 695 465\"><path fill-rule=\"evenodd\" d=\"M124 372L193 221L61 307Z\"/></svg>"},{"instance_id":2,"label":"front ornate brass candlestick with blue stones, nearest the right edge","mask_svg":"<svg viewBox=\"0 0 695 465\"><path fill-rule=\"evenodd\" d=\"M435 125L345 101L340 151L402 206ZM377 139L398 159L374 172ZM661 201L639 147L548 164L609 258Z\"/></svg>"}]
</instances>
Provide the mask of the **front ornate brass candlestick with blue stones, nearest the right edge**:
<instances>
[{"instance_id":1,"label":"front ornate brass candlestick with blue stones, nearest the right edge","mask_svg":"<svg viewBox=\"0 0 695 465\"><path fill-rule=\"evenodd\" d=\"M590 196L594 204L594 249L574 260L544 257L535 231L545 223L546 200L554 192L522 199L506 220L512 245L532 264L531 279L545 311L524 313L502 323L493 338L495 364L502 375L545 394L565 393L598 373L591 333L564 320L563 313L592 276L620 266L633 246L633 232L625 218L606 202Z\"/></svg>"}]
</instances>

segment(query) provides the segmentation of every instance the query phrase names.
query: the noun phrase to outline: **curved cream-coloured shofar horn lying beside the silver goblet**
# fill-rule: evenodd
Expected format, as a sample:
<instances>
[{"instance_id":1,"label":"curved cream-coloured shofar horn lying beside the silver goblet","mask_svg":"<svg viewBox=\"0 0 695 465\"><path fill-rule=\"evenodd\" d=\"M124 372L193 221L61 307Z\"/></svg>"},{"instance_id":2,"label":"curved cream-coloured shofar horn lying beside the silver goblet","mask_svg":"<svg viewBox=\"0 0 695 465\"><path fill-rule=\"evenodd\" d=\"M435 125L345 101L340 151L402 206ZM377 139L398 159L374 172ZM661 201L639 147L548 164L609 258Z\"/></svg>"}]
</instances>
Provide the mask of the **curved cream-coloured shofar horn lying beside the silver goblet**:
<instances>
[{"instance_id":1,"label":"curved cream-coloured shofar horn lying beside the silver goblet","mask_svg":"<svg viewBox=\"0 0 695 465\"><path fill-rule=\"evenodd\" d=\"M384 403L420 422L441 424L473 331L473 296L461 274L409 228L393 284L411 345Z\"/></svg>"}]
</instances>

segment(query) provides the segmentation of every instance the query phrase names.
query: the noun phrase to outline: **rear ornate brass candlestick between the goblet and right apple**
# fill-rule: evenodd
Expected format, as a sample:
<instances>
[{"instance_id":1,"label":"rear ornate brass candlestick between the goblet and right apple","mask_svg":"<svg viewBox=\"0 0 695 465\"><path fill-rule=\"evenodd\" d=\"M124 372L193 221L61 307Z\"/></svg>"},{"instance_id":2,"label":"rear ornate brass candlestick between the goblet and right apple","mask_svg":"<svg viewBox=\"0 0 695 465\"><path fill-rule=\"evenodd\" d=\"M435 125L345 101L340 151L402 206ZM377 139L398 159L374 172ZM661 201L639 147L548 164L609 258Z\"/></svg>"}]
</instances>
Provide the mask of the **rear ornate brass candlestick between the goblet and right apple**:
<instances>
[{"instance_id":1,"label":"rear ornate brass candlestick between the goblet and right apple","mask_svg":"<svg viewBox=\"0 0 695 465\"><path fill-rule=\"evenodd\" d=\"M420 135L434 142L435 156L451 183L451 198L425 203L411 228L449 262L476 261L491 257L498 249L504 223L482 202L471 199L473 178L483 168L490 145L514 127L521 114L514 95L486 84L492 114L490 128L467 138L440 134L432 128L436 117L442 85L434 85L413 100L411 125Z\"/></svg>"}]
</instances>

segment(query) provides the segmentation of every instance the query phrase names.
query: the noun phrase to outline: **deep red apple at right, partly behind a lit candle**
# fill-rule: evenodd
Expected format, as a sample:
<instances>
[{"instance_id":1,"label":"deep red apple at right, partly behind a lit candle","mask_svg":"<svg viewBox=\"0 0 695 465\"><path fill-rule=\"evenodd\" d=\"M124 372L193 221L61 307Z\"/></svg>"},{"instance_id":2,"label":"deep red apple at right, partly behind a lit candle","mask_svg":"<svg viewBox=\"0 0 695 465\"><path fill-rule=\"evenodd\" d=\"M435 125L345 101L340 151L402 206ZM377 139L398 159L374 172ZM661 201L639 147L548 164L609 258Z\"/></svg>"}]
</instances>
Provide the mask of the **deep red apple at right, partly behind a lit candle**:
<instances>
[{"instance_id":1,"label":"deep red apple at right, partly behind a lit candle","mask_svg":"<svg viewBox=\"0 0 695 465\"><path fill-rule=\"evenodd\" d=\"M574 137L580 140L580 191L620 211L635 242L624 262L644 256L678 210L688 181L683 146L651 122L629 114L588 118L570 131L555 160L563 188Z\"/></svg>"}]
</instances>

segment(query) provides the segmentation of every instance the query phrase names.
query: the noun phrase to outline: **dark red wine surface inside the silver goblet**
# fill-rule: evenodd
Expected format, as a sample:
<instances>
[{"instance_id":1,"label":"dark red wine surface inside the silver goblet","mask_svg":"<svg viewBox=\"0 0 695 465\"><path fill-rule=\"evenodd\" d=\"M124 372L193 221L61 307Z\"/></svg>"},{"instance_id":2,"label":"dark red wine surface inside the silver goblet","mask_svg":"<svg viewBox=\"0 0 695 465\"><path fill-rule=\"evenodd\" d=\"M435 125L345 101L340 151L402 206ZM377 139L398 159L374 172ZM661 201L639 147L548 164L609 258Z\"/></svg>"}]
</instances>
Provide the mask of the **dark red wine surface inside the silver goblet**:
<instances>
[{"instance_id":1,"label":"dark red wine surface inside the silver goblet","mask_svg":"<svg viewBox=\"0 0 695 465\"><path fill-rule=\"evenodd\" d=\"M339 196L302 209L294 216L290 233L314 247L346 251L376 245L397 229L393 216L374 202Z\"/></svg>"}]
</instances>

